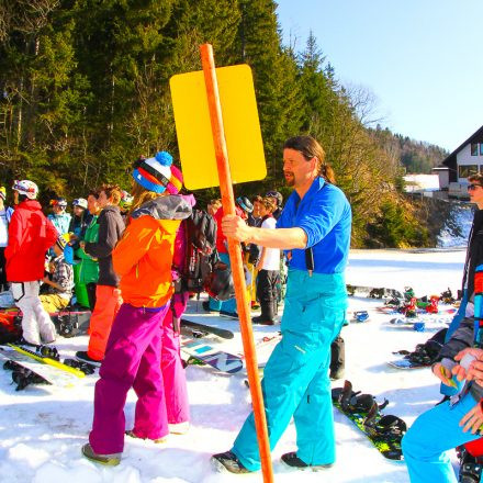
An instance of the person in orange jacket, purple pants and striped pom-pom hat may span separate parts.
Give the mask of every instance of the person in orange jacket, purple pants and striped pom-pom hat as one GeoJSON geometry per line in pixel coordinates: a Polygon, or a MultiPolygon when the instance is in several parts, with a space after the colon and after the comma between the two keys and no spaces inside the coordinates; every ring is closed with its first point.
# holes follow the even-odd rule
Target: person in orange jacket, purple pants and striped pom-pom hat
{"type": "Polygon", "coordinates": [[[179,195],[172,157],[161,151],[133,171],[133,206],[126,231],[112,259],[121,277],[124,302],[109,337],[100,379],[96,383],[94,416],[82,454],[115,465],[124,448],[124,405],[127,392],[137,395],[133,438],[162,442],[169,433],[161,352],[162,321],[172,295],[173,244],[181,220],[191,214],[179,195]]]}

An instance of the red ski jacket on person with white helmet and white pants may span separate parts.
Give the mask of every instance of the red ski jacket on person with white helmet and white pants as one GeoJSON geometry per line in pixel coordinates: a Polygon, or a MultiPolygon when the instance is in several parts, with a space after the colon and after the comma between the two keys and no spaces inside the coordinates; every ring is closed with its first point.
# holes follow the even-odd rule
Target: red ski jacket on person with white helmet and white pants
{"type": "Polygon", "coordinates": [[[9,245],[5,248],[7,280],[42,280],[45,254],[57,237],[57,229],[42,213],[38,201],[25,200],[19,203],[9,225],[9,245]]]}

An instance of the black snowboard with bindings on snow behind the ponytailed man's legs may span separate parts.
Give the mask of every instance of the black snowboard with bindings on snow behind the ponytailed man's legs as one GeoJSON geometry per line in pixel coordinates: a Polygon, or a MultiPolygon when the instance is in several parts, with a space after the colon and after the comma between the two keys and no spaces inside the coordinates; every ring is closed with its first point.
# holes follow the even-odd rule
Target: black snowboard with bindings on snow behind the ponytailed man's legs
{"type": "Polygon", "coordinates": [[[384,458],[403,459],[401,439],[406,433],[406,424],[397,416],[381,414],[387,401],[378,405],[372,395],[353,392],[350,381],[346,381],[344,387],[333,389],[332,397],[334,406],[366,435],[384,458]]]}

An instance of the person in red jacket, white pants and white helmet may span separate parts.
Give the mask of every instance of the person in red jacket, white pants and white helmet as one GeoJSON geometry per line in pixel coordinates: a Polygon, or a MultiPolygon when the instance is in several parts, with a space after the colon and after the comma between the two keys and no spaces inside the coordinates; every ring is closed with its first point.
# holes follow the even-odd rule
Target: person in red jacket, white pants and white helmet
{"type": "Polygon", "coordinates": [[[23,338],[33,345],[41,340],[50,344],[55,340],[55,326],[42,306],[38,290],[44,279],[45,254],[58,234],[35,200],[38,188],[34,182],[15,181],[12,189],[16,206],[5,248],[7,280],[12,283],[15,305],[23,314],[23,338]]]}

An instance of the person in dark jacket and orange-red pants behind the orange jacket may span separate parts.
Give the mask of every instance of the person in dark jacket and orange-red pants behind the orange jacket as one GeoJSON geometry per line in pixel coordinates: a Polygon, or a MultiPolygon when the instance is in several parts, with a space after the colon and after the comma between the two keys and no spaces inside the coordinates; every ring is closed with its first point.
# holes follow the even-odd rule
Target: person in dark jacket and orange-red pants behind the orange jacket
{"type": "Polygon", "coordinates": [[[119,277],[112,267],[112,250],[124,232],[119,202],[122,191],[115,184],[103,184],[99,189],[98,203],[99,239],[97,243],[80,242],[86,254],[99,260],[99,281],[96,289],[96,306],[90,321],[90,338],[87,351],[79,351],[76,358],[100,366],[104,358],[111,326],[122,304],[117,289],[119,277]]]}

